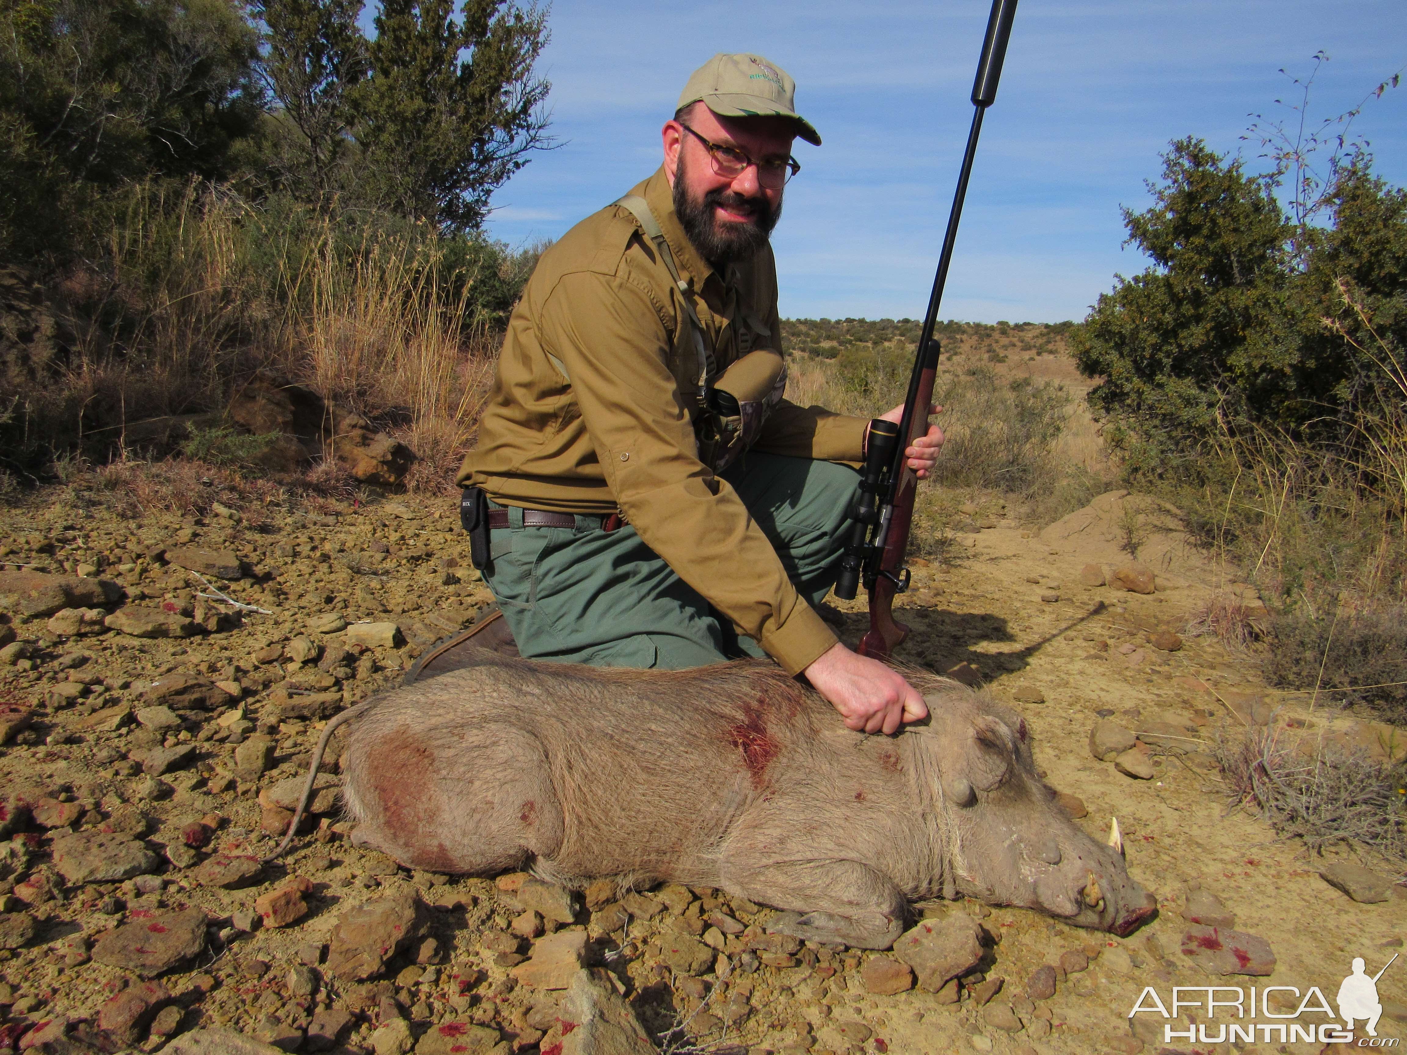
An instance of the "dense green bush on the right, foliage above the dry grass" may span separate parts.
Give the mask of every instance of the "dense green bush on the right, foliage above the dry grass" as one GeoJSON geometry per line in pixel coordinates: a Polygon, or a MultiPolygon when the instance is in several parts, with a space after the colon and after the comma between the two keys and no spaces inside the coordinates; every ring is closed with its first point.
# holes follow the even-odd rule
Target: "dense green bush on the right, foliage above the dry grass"
{"type": "Polygon", "coordinates": [[[1100,295],[1074,335],[1081,370],[1102,378],[1089,398],[1106,436],[1155,475],[1196,471],[1209,440],[1255,428],[1355,449],[1355,415],[1387,378],[1349,300],[1407,347],[1407,193],[1359,153],[1325,187],[1317,226],[1280,205],[1280,170],[1247,173],[1199,139],[1164,160],[1155,204],[1124,210],[1154,266],[1100,295]]]}

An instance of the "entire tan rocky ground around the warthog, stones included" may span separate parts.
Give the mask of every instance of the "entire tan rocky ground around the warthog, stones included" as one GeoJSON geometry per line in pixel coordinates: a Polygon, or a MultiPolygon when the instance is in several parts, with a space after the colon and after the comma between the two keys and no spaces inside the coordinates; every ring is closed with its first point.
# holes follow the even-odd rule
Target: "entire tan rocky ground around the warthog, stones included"
{"type": "MultiPolygon", "coordinates": [[[[1273,1024],[1401,948],[1394,867],[1278,841],[1214,758],[1266,723],[1379,757],[1401,737],[1188,634],[1214,595],[1256,599],[1121,492],[1040,533],[965,508],[954,561],[903,596],[900,658],[1013,702],[1079,823],[1103,838],[1117,817],[1159,917],[1120,940],[940,903],[885,954],[805,945],[718,890],[407,872],[349,841],[335,740],[308,833],[262,864],[326,719],[488,594],[445,499],[210,508],[0,512],[0,1051],[1230,1051],[1207,986],[1290,987],[1258,997],[1273,1024]],[[1128,1017],[1147,987],[1176,1020],[1128,1017]]],[[[858,636],[860,605],[833,618],[858,636]]],[[[1380,1037],[1407,1028],[1404,982],[1401,964],[1379,982],[1380,1037]]]]}

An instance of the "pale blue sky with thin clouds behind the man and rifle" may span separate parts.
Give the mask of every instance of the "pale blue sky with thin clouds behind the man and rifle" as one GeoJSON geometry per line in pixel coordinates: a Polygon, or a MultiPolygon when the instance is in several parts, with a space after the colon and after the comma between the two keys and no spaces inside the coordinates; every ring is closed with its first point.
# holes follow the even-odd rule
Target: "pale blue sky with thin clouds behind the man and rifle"
{"type": "MultiPolygon", "coordinates": [[[[825,145],[798,141],[802,173],[774,234],[785,316],[919,316],[971,120],[989,0],[677,3],[557,0],[539,69],[553,83],[556,151],[494,198],[488,228],[556,238],[658,165],[660,125],[692,69],[718,51],[768,56],[798,82],[825,145]]],[[[1320,72],[1310,110],[1334,115],[1407,63],[1403,0],[1021,0],[986,115],[944,318],[1083,318],[1116,271],[1120,205],[1147,204],[1169,139],[1218,151],[1320,72]]],[[[1289,115],[1289,114],[1286,114],[1289,115]]],[[[1355,128],[1380,176],[1407,183],[1407,84],[1355,128]]]]}

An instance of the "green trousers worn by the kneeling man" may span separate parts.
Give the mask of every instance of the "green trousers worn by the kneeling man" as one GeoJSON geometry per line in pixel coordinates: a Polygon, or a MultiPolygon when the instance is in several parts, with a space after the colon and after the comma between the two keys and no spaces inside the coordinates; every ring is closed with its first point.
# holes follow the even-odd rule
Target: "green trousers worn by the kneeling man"
{"type": "MultiPolygon", "coordinates": [[[[798,592],[812,605],[836,581],[858,480],[830,461],[751,453],[722,473],[771,540],[798,592]]],[[[702,667],[764,653],[740,637],[692,587],[646,546],[635,528],[601,530],[509,526],[492,533],[484,580],[519,651],[533,660],[594,667],[702,667]]]]}

